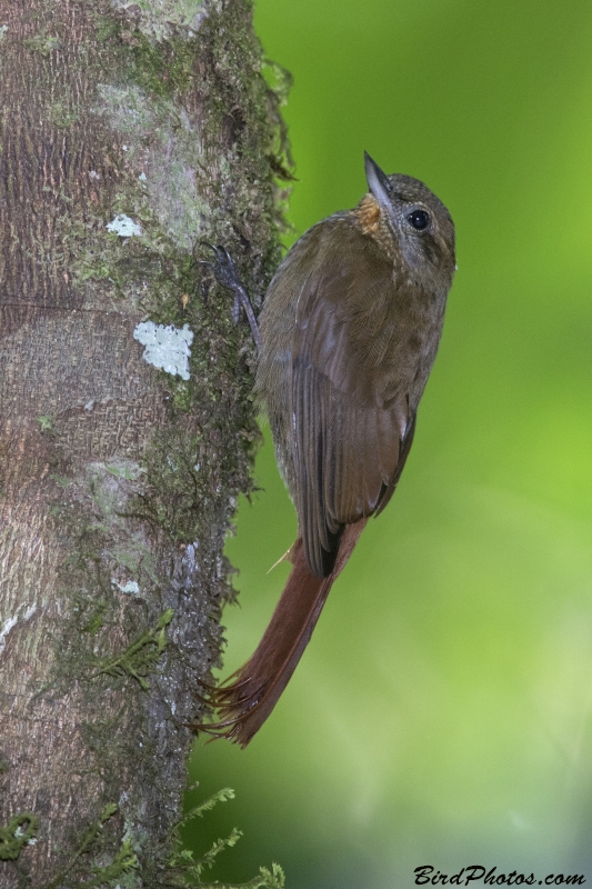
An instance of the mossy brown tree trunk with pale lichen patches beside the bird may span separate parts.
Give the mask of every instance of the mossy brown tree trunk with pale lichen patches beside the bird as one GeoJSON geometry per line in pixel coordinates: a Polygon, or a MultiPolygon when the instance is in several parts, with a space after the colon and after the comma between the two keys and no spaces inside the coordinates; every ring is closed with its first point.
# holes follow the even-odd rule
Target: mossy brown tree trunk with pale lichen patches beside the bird
{"type": "Polygon", "coordinates": [[[261,67],[248,0],[0,0],[2,889],[175,880],[258,436],[249,329],[195,258],[224,243],[255,294],[277,263],[261,67]],[[189,326],[189,379],[146,320],[189,326]]]}

